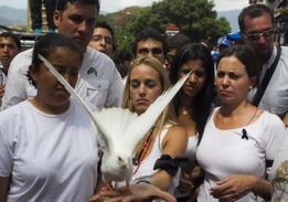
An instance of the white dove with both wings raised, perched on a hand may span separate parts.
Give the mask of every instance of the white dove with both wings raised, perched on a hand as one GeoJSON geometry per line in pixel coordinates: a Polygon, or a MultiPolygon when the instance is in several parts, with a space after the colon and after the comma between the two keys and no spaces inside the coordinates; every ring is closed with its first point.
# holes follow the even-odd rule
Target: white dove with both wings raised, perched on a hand
{"type": "Polygon", "coordinates": [[[162,110],[194,70],[179,79],[173,87],[170,87],[160,95],[146,113],[140,116],[131,113],[129,109],[116,107],[104,108],[100,111],[93,113],[53,65],[42,55],[39,55],[39,57],[92,117],[97,130],[100,150],[103,151],[100,170],[104,180],[106,182],[107,180],[126,181],[127,184],[129,184],[132,177],[132,155],[136,146],[150,130],[162,110]]]}

